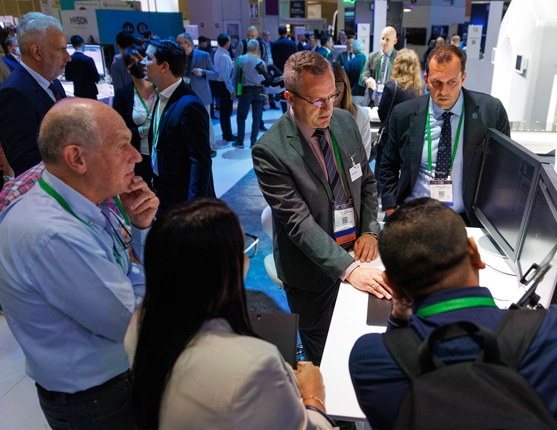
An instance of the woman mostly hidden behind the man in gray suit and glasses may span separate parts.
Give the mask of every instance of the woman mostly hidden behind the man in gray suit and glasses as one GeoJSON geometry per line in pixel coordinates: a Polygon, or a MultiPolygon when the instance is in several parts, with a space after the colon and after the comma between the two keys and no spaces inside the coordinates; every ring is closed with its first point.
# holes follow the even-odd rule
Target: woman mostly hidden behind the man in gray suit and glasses
{"type": "Polygon", "coordinates": [[[334,101],[334,106],[349,111],[356,120],[356,124],[358,124],[358,130],[360,130],[362,142],[366,150],[367,159],[369,160],[371,155],[371,109],[368,107],[358,106],[352,101],[350,80],[344,71],[344,67],[342,67],[339,63],[333,63],[333,74],[335,75],[337,90],[340,93],[334,101]]]}

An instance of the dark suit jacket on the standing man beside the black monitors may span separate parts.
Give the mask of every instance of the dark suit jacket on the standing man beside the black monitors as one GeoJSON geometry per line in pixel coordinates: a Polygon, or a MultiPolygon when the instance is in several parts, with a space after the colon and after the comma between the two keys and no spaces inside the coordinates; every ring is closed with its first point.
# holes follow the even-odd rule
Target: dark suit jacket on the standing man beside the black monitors
{"type": "MultiPolygon", "coordinates": [[[[472,204],[486,147],[488,128],[510,136],[509,119],[503,104],[490,95],[462,89],[464,94],[464,136],[462,197],[468,220],[480,226],[472,204]]],[[[393,108],[389,140],[381,158],[379,175],[383,209],[396,207],[412,194],[424,147],[429,95],[407,100],[393,108]],[[400,174],[400,177],[399,177],[400,174]]]]}

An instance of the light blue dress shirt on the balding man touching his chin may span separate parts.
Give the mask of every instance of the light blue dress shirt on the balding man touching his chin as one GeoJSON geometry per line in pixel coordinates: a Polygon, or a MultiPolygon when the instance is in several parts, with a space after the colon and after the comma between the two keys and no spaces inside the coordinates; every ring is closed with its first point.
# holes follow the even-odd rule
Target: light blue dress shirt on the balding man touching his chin
{"type": "MultiPolygon", "coordinates": [[[[79,219],[38,184],[2,212],[0,302],[26,373],[47,390],[74,393],[129,368],[124,335],[145,295],[145,275],[105,230],[103,204],[46,170],[43,180],[79,219]]],[[[124,223],[109,216],[115,228],[124,223]]],[[[146,234],[132,227],[140,260],[146,234]]]]}

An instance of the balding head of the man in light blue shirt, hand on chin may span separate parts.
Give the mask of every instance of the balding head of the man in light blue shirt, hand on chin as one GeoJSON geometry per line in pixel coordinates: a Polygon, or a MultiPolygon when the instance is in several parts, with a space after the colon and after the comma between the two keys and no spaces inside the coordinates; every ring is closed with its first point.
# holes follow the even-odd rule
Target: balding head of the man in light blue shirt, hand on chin
{"type": "Polygon", "coordinates": [[[141,161],[122,117],[82,98],[62,99],[48,111],[39,149],[49,172],[95,204],[128,191],[141,161]]]}

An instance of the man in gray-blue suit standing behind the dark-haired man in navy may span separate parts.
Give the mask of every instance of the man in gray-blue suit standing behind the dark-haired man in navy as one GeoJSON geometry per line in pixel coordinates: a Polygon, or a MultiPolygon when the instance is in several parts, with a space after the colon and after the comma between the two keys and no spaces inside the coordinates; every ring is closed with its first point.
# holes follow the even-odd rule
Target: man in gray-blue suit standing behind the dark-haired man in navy
{"type": "MultiPolygon", "coordinates": [[[[211,55],[199,49],[193,49],[193,39],[188,33],[182,33],[176,38],[178,45],[186,52],[186,71],[184,81],[191,85],[197,97],[201,99],[209,116],[211,115],[211,103],[213,95],[209,80],[216,81],[219,74],[213,66],[211,55]]],[[[213,124],[209,122],[209,139],[211,143],[211,156],[217,155],[217,144],[213,124]]]]}

